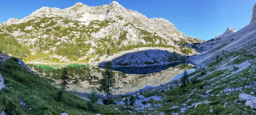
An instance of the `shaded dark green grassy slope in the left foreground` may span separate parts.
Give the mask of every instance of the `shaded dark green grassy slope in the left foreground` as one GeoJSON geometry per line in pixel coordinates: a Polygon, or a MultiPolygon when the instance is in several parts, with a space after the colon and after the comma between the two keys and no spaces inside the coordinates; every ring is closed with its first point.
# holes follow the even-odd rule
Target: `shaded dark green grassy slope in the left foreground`
{"type": "MultiPolygon", "coordinates": [[[[55,101],[58,89],[41,77],[29,73],[26,68],[18,66],[17,59],[12,58],[0,63],[0,74],[7,84],[6,88],[0,91],[0,111],[4,110],[8,115],[60,115],[62,112],[69,115],[82,115],[84,112],[86,115],[95,115],[89,112],[87,101],[73,93],[65,92],[62,102],[55,101]],[[20,101],[24,101],[26,105],[21,106],[20,101]]],[[[101,115],[126,114],[116,111],[113,108],[116,105],[94,106],[96,113],[101,115]]]]}

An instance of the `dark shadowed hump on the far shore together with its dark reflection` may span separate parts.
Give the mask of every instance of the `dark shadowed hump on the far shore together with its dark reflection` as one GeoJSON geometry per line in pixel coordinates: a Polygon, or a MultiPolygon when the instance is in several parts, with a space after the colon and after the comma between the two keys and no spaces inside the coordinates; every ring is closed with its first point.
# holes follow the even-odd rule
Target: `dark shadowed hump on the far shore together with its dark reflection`
{"type": "MultiPolygon", "coordinates": [[[[146,75],[160,72],[170,67],[176,67],[186,62],[186,56],[167,50],[143,50],[139,52],[126,53],[112,61],[113,70],[126,74],[146,75]]],[[[106,62],[99,64],[104,68],[106,62]]]]}

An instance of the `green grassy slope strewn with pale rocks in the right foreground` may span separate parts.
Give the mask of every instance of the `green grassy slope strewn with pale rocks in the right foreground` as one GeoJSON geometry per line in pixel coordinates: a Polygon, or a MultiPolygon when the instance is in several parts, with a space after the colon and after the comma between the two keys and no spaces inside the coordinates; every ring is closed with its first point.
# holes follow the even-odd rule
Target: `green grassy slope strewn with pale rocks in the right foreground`
{"type": "MultiPolygon", "coordinates": [[[[256,112],[253,111],[253,109],[250,109],[250,107],[245,106],[245,102],[239,101],[239,93],[241,91],[236,90],[233,92],[226,92],[231,93],[231,95],[226,95],[226,93],[220,93],[226,88],[238,88],[238,87],[245,87],[246,85],[254,85],[253,81],[256,81],[255,75],[255,56],[252,55],[246,55],[243,53],[229,53],[222,57],[220,61],[215,61],[210,64],[208,64],[209,68],[201,68],[199,70],[196,70],[194,73],[190,73],[189,76],[192,77],[190,81],[193,79],[198,79],[200,77],[203,77],[200,79],[199,83],[192,84],[190,82],[186,86],[186,92],[183,92],[183,90],[180,88],[180,86],[176,87],[176,85],[166,92],[160,93],[162,89],[157,89],[158,93],[154,93],[152,95],[160,95],[161,97],[164,97],[166,95],[166,98],[163,99],[163,101],[148,101],[150,104],[163,104],[163,107],[159,107],[153,110],[147,110],[147,114],[151,113],[152,115],[157,115],[154,112],[157,111],[157,113],[165,112],[165,115],[172,115],[172,112],[179,112],[179,109],[169,109],[173,106],[182,106],[182,104],[192,105],[196,104],[198,102],[204,102],[209,101],[208,104],[200,104],[197,106],[196,109],[194,109],[195,106],[189,108],[186,110],[184,115],[229,115],[232,113],[232,115],[251,115],[255,114],[256,112]],[[237,57],[237,59],[232,60],[232,58],[237,57]],[[230,67],[234,64],[239,65],[245,61],[248,61],[251,63],[251,65],[240,71],[237,72],[239,67],[230,67]],[[227,64],[225,67],[223,67],[223,70],[217,70],[220,69],[221,65],[227,64]],[[227,69],[227,68],[230,69],[227,69]],[[202,72],[204,73],[202,74],[202,72]],[[237,72],[237,73],[236,73],[237,72]],[[235,73],[235,74],[232,74],[235,73]],[[249,74],[250,73],[250,74],[249,74]],[[231,76],[228,76],[231,75],[231,76]],[[227,78],[224,78],[228,76],[227,78]],[[224,78],[224,79],[221,79],[224,78]],[[244,78],[246,80],[244,80],[244,78]],[[248,80],[250,79],[250,80],[248,80]],[[214,83],[214,84],[213,84],[214,83]],[[200,89],[200,86],[207,86],[204,89],[200,89]],[[189,97],[192,90],[197,90],[189,97]],[[209,93],[209,95],[206,95],[207,90],[211,90],[212,92],[209,93]],[[164,95],[163,95],[164,94],[164,95]],[[201,98],[201,95],[205,95],[206,97],[201,98]],[[211,96],[211,95],[214,96],[211,96]],[[220,96],[216,96],[217,94],[221,94],[220,96]],[[191,99],[190,101],[188,101],[191,99]],[[235,100],[238,100],[236,103],[235,100]],[[188,102],[186,102],[188,101],[188,102]],[[167,102],[167,104],[165,104],[167,102]],[[225,105],[224,108],[224,104],[225,105]],[[241,103],[241,104],[239,104],[241,103]],[[210,108],[212,106],[212,108],[210,108]],[[247,108],[247,109],[245,109],[247,108]],[[213,112],[209,112],[211,109],[213,109],[213,112]]],[[[242,89],[244,93],[250,94],[250,92],[255,92],[252,88],[246,88],[242,89]]],[[[151,95],[152,91],[147,91],[143,93],[143,95],[151,95]]],[[[255,95],[254,95],[255,96],[255,95]]],[[[126,97],[125,97],[126,98],[126,97]]],[[[129,97],[127,97],[129,98],[129,97]]],[[[185,106],[186,107],[186,106],[185,106]]],[[[137,112],[137,115],[144,115],[145,113],[137,112]]]]}

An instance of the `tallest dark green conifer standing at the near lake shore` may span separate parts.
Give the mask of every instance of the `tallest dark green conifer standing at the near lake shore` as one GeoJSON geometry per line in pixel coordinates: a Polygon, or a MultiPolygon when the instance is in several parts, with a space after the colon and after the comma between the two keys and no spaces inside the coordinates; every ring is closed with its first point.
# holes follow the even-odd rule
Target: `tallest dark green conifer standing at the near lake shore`
{"type": "Polygon", "coordinates": [[[101,83],[100,83],[101,86],[99,87],[100,92],[103,91],[105,94],[107,94],[107,104],[109,103],[108,95],[111,92],[111,88],[115,84],[115,78],[114,78],[114,74],[111,66],[112,66],[111,62],[107,62],[105,64],[104,66],[105,71],[102,73],[103,78],[101,79],[101,83]]]}

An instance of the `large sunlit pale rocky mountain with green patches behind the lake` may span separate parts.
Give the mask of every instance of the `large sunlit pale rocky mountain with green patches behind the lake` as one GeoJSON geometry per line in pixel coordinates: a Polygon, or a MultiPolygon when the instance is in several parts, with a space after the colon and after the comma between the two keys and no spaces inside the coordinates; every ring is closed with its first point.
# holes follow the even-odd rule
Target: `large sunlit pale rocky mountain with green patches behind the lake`
{"type": "Polygon", "coordinates": [[[95,7],[82,3],[64,9],[42,7],[23,19],[11,18],[0,24],[0,35],[14,37],[27,48],[29,54],[16,55],[25,62],[48,63],[94,62],[108,51],[110,56],[134,48],[173,48],[181,55],[192,55],[195,50],[183,45],[204,42],[178,31],[169,20],[148,19],[117,2],[95,7]]]}

